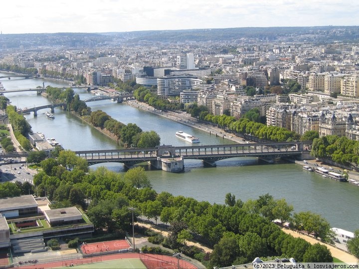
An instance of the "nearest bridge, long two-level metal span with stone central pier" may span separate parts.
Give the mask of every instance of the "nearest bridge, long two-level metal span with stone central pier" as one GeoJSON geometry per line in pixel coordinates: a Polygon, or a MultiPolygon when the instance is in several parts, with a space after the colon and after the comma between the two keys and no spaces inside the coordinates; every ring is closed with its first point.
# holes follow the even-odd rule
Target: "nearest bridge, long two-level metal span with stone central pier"
{"type": "Polygon", "coordinates": [[[162,145],[154,148],[88,150],[75,151],[75,153],[85,158],[90,165],[120,162],[126,167],[132,167],[137,163],[149,161],[153,166],[160,168],[160,161],[176,162],[180,165],[184,163],[184,159],[199,159],[204,164],[215,166],[216,161],[233,157],[258,157],[269,162],[279,157],[295,158],[303,152],[308,152],[304,145],[311,143],[312,141],[293,141],[228,145],[162,145]]]}

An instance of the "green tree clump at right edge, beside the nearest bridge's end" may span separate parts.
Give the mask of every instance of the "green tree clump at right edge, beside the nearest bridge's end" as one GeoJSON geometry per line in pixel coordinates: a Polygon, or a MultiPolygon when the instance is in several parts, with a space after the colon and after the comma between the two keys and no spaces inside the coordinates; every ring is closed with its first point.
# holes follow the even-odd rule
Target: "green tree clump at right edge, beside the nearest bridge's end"
{"type": "Polygon", "coordinates": [[[359,141],[338,135],[322,136],[313,140],[311,155],[356,166],[359,164],[359,141]]]}

